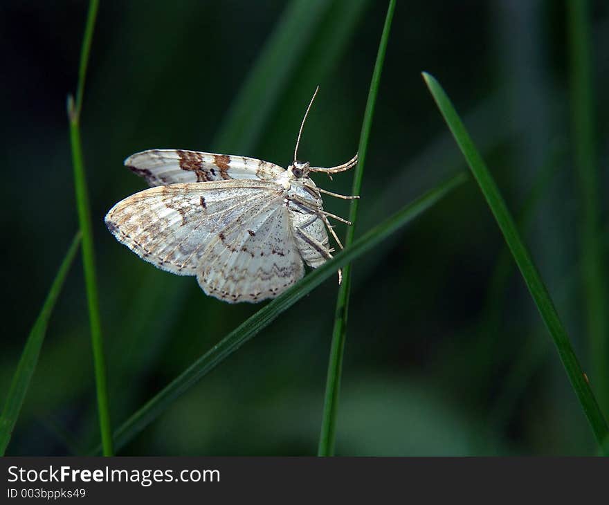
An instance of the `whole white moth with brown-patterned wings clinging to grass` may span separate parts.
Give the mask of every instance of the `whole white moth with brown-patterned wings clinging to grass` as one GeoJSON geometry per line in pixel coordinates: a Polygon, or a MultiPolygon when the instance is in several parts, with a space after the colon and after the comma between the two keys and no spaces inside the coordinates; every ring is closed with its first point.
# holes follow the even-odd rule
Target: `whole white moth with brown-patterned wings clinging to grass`
{"type": "MultiPolygon", "coordinates": [[[[300,279],[303,261],[317,268],[331,258],[322,190],[310,172],[337,167],[299,161],[298,143],[316,89],[302,119],[294,161],[287,169],[268,161],[175,149],[152,149],[125,160],[147,190],[128,196],[105,217],[108,230],[139,257],[178,275],[194,275],[203,291],[226,302],[274,298],[300,279]]],[[[339,271],[340,282],[340,271],[339,271]]]]}

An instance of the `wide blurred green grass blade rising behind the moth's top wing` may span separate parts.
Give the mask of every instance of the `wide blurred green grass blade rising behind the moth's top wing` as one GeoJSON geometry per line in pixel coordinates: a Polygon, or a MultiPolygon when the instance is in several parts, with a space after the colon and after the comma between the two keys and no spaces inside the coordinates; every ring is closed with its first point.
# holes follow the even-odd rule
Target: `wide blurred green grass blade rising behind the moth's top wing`
{"type": "Polygon", "coordinates": [[[252,149],[330,4],[329,0],[289,4],[220,127],[214,142],[217,152],[252,149]]]}

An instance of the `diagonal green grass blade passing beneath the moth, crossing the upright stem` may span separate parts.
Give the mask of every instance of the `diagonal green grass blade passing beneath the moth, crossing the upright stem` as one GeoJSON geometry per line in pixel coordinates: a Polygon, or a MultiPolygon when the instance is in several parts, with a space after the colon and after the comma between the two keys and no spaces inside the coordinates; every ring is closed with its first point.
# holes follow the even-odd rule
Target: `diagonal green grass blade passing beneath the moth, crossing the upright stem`
{"type": "Polygon", "coordinates": [[[190,365],[172,383],[156,394],[154,398],[148,401],[120,426],[114,437],[117,448],[124,446],[125,443],[133,439],[138,432],[160,416],[179,396],[187,392],[190,387],[219,365],[221,361],[278,318],[283,311],[289,309],[290,306],[298,302],[307,293],[310,293],[313,288],[319,286],[325,279],[336,275],[336,270],[340,266],[347,264],[349,261],[374,248],[379,242],[435,205],[443,196],[465,180],[466,176],[459,174],[430,190],[416,201],[406,205],[402,210],[393,214],[392,217],[365,233],[352,246],[340,251],[334,259],[313,270],[298,284],[292,286],[288,291],[282,293],[282,295],[252,315],[251,318],[240,324],[237,329],[229,333],[228,336],[212,347],[210,351],[190,365]]]}

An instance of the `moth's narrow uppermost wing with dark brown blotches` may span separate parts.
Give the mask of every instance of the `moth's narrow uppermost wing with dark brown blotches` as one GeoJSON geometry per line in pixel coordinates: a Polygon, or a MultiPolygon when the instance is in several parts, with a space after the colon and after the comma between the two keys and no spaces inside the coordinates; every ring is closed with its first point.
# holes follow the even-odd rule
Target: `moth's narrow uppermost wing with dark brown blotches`
{"type": "Polygon", "coordinates": [[[285,172],[268,161],[181,149],[150,149],[125,160],[131,172],[151,186],[175,183],[201,183],[230,179],[271,180],[285,172]]]}

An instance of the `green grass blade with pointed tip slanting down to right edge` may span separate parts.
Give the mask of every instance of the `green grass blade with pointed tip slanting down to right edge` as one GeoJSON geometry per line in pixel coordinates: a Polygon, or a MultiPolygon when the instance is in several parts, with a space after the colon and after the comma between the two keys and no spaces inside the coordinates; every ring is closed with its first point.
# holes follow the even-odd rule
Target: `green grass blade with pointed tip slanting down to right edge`
{"type": "Polygon", "coordinates": [[[525,247],[525,244],[523,244],[522,239],[520,239],[520,235],[513,223],[511,214],[509,213],[509,210],[507,210],[507,206],[502,199],[489,169],[487,169],[484,164],[484,160],[482,160],[482,156],[478,153],[478,149],[475,148],[461,119],[453,108],[453,104],[451,104],[451,101],[448,99],[448,96],[446,96],[446,93],[444,93],[442,86],[440,86],[434,77],[428,73],[423,73],[423,77],[442,116],[444,116],[444,120],[446,120],[448,128],[451,129],[451,132],[457,141],[457,145],[459,145],[461,152],[466,158],[471,172],[491,208],[491,212],[493,212],[493,216],[505,237],[507,246],[520,269],[522,278],[525,280],[525,284],[527,284],[527,288],[531,293],[531,297],[533,297],[541,318],[554,340],[554,344],[561,357],[567,376],[581,403],[583,412],[590,422],[594,436],[597,438],[601,448],[603,448],[606,441],[609,440],[609,428],[603,418],[599,405],[594,398],[594,394],[592,394],[588,378],[583,373],[579,361],[575,356],[569,336],[558,317],[552,298],[531,259],[529,251],[525,247]]]}

